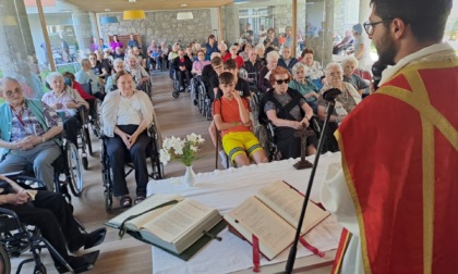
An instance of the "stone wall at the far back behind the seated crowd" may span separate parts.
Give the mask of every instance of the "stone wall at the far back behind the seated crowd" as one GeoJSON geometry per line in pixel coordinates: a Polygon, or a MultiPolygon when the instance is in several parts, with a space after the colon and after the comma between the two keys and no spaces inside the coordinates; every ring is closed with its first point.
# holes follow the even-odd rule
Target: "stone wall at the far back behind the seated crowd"
{"type": "Polygon", "coordinates": [[[154,39],[156,42],[174,43],[198,41],[205,43],[208,35],[213,34],[210,10],[189,10],[193,20],[177,20],[177,11],[146,12],[145,20],[122,20],[122,13],[100,14],[103,16],[117,16],[119,23],[100,25],[101,37],[108,41],[109,35],[140,34],[144,48],[154,39]]]}

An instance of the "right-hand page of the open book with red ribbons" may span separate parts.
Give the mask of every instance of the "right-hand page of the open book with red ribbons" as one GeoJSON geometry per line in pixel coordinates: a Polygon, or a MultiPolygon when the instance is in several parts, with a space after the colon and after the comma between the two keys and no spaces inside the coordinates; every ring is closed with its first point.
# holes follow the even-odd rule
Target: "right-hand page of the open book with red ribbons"
{"type": "MultiPolygon", "coordinates": [[[[263,187],[256,197],[294,228],[298,227],[304,197],[282,180],[263,187]]],[[[309,201],[301,233],[305,234],[323,221],[329,213],[309,201]]]]}

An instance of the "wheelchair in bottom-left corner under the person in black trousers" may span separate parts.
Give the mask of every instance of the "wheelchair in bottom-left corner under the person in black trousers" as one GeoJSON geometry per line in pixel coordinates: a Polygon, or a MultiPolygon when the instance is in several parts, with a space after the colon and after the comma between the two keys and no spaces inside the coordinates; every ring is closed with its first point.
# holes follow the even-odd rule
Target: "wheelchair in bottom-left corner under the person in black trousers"
{"type": "MultiPolygon", "coordinates": [[[[8,175],[25,189],[44,190],[44,183],[28,176],[20,174],[8,175]]],[[[84,227],[81,226],[84,231],[84,227]]],[[[23,260],[19,265],[16,273],[21,273],[24,264],[35,262],[34,274],[46,274],[47,270],[40,260],[39,253],[43,248],[47,248],[50,253],[62,264],[69,272],[73,272],[71,266],[59,254],[59,252],[43,237],[39,229],[26,226],[21,223],[14,211],[0,208],[0,273],[11,273],[10,258],[19,258],[22,253],[32,252],[31,259],[23,260]]]]}

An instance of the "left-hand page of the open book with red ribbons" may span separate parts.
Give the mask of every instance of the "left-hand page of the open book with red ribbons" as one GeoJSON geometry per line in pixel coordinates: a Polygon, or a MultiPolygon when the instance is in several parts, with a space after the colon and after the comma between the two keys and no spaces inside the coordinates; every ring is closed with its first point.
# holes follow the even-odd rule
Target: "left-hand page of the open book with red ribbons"
{"type": "Polygon", "coordinates": [[[294,229],[254,197],[229,212],[225,220],[251,242],[254,234],[268,259],[285,250],[294,239],[294,229]]]}

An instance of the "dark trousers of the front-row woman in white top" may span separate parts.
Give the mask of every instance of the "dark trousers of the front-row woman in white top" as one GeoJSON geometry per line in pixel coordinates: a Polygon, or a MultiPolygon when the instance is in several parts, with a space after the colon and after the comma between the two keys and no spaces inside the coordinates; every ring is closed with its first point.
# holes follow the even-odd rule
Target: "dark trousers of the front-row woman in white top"
{"type": "MultiPolygon", "coordinates": [[[[126,133],[133,134],[137,125],[118,125],[118,127],[126,133]]],[[[136,196],[146,197],[146,185],[148,184],[148,169],[146,166],[146,149],[149,144],[149,136],[143,132],[135,144],[129,150],[121,137],[107,138],[107,152],[110,159],[111,170],[113,174],[113,194],[116,197],[129,194],[125,182],[125,158],[128,153],[131,157],[135,167],[136,196]]]]}

